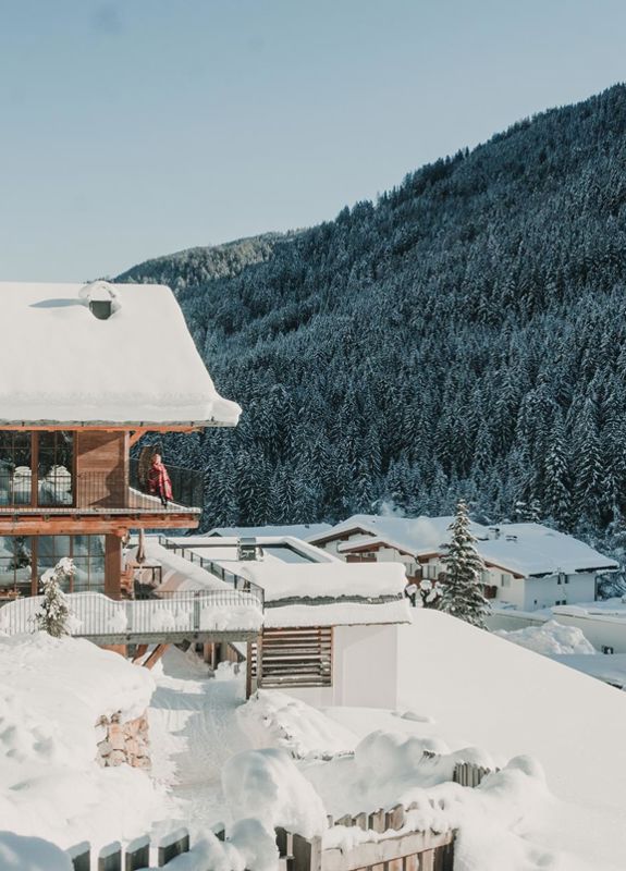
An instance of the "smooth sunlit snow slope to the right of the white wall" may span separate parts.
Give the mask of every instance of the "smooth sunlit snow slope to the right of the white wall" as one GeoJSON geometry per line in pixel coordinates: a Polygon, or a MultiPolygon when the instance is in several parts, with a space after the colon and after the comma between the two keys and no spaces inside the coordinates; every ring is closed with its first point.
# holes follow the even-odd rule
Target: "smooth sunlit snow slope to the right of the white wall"
{"type": "Polygon", "coordinates": [[[384,728],[453,749],[477,745],[496,762],[530,753],[561,799],[533,830],[547,849],[570,854],[555,867],[623,871],[626,696],[435,611],[416,609],[398,631],[400,698],[408,717],[434,722],[372,709],[328,713],[358,735],[384,728]]]}

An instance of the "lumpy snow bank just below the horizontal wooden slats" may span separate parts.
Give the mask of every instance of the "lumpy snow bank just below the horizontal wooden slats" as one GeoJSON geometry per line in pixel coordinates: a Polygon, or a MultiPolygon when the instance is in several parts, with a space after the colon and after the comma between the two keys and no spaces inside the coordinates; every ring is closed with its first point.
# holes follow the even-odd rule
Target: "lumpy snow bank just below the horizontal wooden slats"
{"type": "Polygon", "coordinates": [[[237,719],[255,747],[283,747],[295,759],[329,759],[358,741],[317,708],[277,690],[257,690],[237,709],[237,719]]]}

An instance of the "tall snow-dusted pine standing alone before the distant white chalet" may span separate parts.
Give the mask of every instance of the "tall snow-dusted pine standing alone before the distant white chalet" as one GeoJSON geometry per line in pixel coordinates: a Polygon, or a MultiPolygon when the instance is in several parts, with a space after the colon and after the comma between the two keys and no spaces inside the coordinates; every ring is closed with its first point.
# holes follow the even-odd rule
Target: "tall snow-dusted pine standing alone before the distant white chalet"
{"type": "Polygon", "coordinates": [[[452,538],[442,557],[445,579],[441,585],[438,608],[484,628],[484,617],[489,611],[489,603],[480,589],[480,573],[484,563],[476,550],[476,539],[469,531],[467,505],[463,500],[456,506],[456,515],[449,529],[452,538]]]}

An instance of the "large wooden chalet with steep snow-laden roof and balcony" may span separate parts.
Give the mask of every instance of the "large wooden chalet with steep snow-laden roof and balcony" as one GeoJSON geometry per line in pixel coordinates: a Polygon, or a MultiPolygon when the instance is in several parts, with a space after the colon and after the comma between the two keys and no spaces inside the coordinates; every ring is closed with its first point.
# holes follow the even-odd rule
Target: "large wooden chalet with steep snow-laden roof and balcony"
{"type": "Polygon", "coordinates": [[[161,498],[132,446],[233,427],[240,406],[216,391],[169,287],[0,283],[0,603],[36,596],[63,556],[67,592],[132,597],[130,530],[195,528],[202,504],[199,471],[167,464],[161,498]]]}

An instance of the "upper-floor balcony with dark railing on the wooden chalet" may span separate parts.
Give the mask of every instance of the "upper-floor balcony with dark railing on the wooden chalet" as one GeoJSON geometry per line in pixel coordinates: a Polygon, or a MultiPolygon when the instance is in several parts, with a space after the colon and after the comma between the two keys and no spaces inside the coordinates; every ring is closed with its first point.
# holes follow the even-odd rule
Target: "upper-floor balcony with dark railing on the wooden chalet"
{"type": "Polygon", "coordinates": [[[123,470],[81,471],[53,466],[34,481],[30,469],[0,467],[0,517],[7,515],[199,515],[202,508],[202,475],[180,466],[168,466],[172,501],[146,492],[136,459],[123,470]]]}

